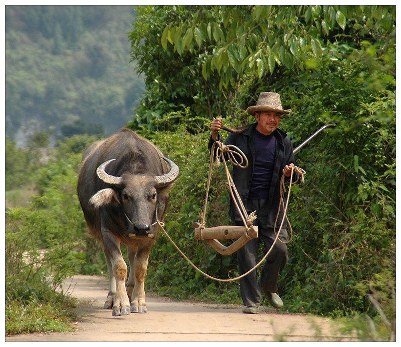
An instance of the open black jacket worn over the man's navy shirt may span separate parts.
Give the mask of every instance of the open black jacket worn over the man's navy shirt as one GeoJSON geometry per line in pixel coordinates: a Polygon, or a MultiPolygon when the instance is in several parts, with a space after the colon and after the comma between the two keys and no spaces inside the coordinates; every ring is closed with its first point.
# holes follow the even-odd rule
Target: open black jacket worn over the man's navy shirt
{"type": "MultiPolygon", "coordinates": [[[[255,148],[252,142],[252,134],[256,125],[257,123],[252,124],[248,129],[246,129],[241,134],[230,133],[230,135],[224,141],[224,144],[226,145],[232,144],[237,146],[244,152],[244,154],[248,159],[249,164],[248,167],[245,169],[232,165],[233,181],[244,205],[246,205],[246,200],[248,198],[253,175],[255,148]]],[[[266,225],[267,227],[273,227],[276,220],[277,211],[280,204],[280,180],[281,176],[283,175],[283,168],[285,165],[294,163],[294,153],[293,153],[292,143],[290,139],[287,137],[287,134],[284,131],[277,128],[273,132],[273,135],[276,139],[276,153],[274,160],[274,171],[273,171],[273,176],[271,178],[271,185],[267,204],[268,210],[258,211],[258,214],[267,213],[267,225],[266,225]]],[[[208,143],[209,150],[211,150],[212,145],[213,145],[213,139],[210,137],[208,143]]],[[[296,178],[297,175],[294,174],[293,181],[295,181],[296,178]]],[[[284,193],[284,205],[286,204],[286,201],[287,201],[287,194],[284,193]]],[[[280,211],[280,216],[277,220],[277,229],[281,225],[283,214],[284,213],[282,207],[280,211]]],[[[241,221],[241,217],[237,211],[237,207],[232,201],[232,197],[230,197],[229,215],[233,221],[241,221]]],[[[283,228],[285,228],[286,225],[287,223],[285,221],[283,224],[283,228]]]]}

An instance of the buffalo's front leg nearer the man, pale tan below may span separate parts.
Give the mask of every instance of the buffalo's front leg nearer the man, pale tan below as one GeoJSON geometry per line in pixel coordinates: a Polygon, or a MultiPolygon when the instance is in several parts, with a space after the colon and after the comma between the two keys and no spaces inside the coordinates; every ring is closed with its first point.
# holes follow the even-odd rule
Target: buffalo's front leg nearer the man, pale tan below
{"type": "Polygon", "coordinates": [[[146,313],[145,303],[145,276],[148,268],[150,248],[128,248],[130,261],[130,276],[127,282],[127,292],[131,296],[131,312],[146,313]]]}

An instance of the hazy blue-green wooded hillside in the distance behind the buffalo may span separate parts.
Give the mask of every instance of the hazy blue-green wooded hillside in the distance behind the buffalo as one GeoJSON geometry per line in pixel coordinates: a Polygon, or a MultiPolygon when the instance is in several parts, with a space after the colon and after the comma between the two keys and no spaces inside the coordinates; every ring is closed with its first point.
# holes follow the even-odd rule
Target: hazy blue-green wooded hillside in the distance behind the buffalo
{"type": "Polygon", "coordinates": [[[108,135],[130,121],[144,90],[134,19],[134,6],[5,6],[6,135],[108,135]]]}

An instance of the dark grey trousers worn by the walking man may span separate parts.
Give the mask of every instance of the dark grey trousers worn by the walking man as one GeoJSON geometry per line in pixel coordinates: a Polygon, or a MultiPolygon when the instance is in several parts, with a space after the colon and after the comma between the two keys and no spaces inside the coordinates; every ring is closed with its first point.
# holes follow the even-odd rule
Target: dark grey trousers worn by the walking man
{"type": "MultiPolygon", "coordinates": [[[[267,228],[267,200],[248,200],[246,202],[246,210],[248,213],[256,210],[257,219],[253,225],[258,226],[259,237],[248,241],[242,248],[237,251],[238,270],[240,275],[247,272],[255,266],[261,259],[258,259],[259,245],[264,244],[264,254],[273,245],[276,235],[274,228],[267,228]]],[[[242,221],[234,222],[235,225],[244,225],[242,221]]],[[[279,231],[280,225],[276,226],[276,232],[279,231]]],[[[287,264],[287,242],[288,234],[286,229],[281,229],[279,239],[270,250],[267,259],[262,264],[262,272],[260,281],[256,276],[256,269],[250,272],[240,280],[241,297],[245,306],[258,306],[262,301],[262,292],[277,292],[278,276],[287,264]]]]}

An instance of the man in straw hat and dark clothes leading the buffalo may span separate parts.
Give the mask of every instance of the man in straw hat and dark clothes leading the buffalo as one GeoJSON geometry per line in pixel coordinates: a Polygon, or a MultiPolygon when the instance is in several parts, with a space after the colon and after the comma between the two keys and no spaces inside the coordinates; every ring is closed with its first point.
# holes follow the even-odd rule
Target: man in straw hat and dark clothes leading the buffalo
{"type": "MultiPolygon", "coordinates": [[[[242,133],[231,133],[224,144],[233,144],[246,155],[249,165],[243,169],[233,165],[232,177],[234,184],[246,207],[247,213],[256,210],[259,237],[250,240],[237,251],[240,275],[247,272],[258,263],[258,251],[261,242],[264,243],[265,254],[276,238],[274,225],[280,204],[280,179],[282,174],[290,177],[294,166],[292,143],[287,134],[278,128],[283,110],[280,95],[277,93],[261,93],[255,106],[247,108],[247,112],[255,116],[256,123],[250,125],[242,133]]],[[[223,119],[214,119],[211,123],[211,138],[209,149],[214,141],[220,141],[219,130],[223,119]]],[[[297,178],[293,174],[294,180],[297,178]]],[[[284,200],[284,204],[286,200],[284,200]]],[[[230,217],[234,225],[243,225],[240,215],[230,201],[230,217]]],[[[277,220],[278,232],[284,216],[281,208],[277,220]]],[[[283,306],[277,294],[278,276],[288,260],[288,233],[286,223],[280,231],[279,240],[267,256],[263,266],[260,282],[256,279],[256,270],[243,277],[240,282],[241,297],[244,302],[244,313],[258,313],[262,301],[262,293],[270,305],[276,309],[283,306]]]]}

